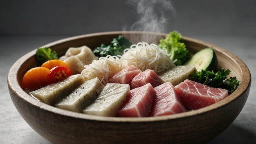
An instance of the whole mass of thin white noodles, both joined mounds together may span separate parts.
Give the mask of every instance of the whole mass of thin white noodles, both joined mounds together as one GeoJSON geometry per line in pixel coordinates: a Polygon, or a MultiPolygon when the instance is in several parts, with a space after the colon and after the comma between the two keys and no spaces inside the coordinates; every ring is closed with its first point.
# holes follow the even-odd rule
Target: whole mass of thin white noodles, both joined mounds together
{"type": "Polygon", "coordinates": [[[159,48],[156,44],[139,42],[124,50],[122,56],[106,56],[93,60],[85,65],[81,72],[85,81],[98,77],[106,85],[108,79],[129,65],[134,65],[141,71],[150,69],[160,74],[175,67],[166,49],[159,48]]]}

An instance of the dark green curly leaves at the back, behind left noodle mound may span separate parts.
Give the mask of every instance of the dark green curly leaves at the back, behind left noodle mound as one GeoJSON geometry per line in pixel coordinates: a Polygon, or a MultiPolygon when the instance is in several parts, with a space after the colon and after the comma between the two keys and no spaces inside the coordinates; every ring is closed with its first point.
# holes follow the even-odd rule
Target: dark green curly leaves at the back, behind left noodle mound
{"type": "Polygon", "coordinates": [[[124,49],[130,48],[131,45],[131,41],[126,39],[126,37],[119,35],[117,38],[114,38],[108,46],[101,44],[101,46],[95,48],[93,52],[97,57],[106,57],[107,55],[123,55],[124,49]]]}

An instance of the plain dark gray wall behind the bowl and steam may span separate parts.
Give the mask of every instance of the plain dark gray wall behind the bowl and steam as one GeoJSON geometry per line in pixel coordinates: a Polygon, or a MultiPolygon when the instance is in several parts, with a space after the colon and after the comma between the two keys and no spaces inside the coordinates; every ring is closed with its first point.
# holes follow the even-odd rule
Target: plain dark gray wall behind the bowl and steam
{"type": "MultiPolygon", "coordinates": [[[[148,0],[149,2],[150,0],[148,0]]],[[[165,32],[256,36],[256,0],[173,0],[165,32]]],[[[137,22],[125,0],[1,0],[0,35],[82,35],[137,22]]],[[[158,8],[161,10],[161,8],[158,8]]]]}

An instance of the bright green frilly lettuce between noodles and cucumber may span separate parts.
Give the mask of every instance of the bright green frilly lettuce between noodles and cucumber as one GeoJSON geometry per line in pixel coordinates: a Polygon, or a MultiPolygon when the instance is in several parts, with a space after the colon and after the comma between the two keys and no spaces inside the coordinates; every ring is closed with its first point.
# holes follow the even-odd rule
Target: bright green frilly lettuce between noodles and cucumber
{"type": "Polygon", "coordinates": [[[166,48],[171,54],[170,59],[175,65],[183,65],[190,58],[189,50],[183,42],[183,37],[177,31],[170,32],[165,39],[160,39],[159,48],[166,48]]]}

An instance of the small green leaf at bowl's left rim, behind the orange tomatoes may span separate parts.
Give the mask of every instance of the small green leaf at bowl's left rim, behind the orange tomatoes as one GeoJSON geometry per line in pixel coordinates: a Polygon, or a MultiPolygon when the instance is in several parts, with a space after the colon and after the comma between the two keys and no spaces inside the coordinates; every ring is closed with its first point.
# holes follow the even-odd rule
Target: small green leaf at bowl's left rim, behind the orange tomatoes
{"type": "Polygon", "coordinates": [[[49,47],[38,48],[36,50],[36,61],[38,61],[38,65],[42,65],[44,62],[51,59],[58,59],[56,51],[52,52],[52,49],[49,47]]]}

